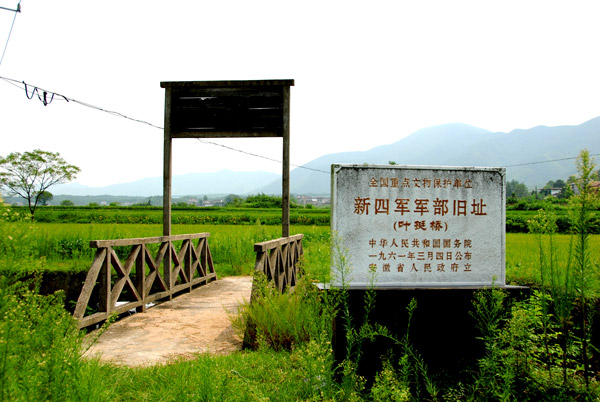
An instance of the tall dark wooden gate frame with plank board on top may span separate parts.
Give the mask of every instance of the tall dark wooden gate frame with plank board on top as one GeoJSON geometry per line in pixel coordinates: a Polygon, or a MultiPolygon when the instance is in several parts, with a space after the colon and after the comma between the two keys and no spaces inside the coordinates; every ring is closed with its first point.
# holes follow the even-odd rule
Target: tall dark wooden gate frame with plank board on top
{"type": "Polygon", "coordinates": [[[290,86],[294,80],[170,81],[165,89],[163,235],[171,235],[173,138],[283,138],[282,236],[290,234],[290,86]]]}

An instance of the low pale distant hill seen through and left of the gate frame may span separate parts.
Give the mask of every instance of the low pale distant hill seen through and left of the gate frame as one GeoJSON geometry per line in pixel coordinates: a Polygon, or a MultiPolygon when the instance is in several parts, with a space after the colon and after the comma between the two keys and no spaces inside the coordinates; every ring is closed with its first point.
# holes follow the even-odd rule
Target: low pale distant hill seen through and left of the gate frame
{"type": "MultiPolygon", "coordinates": [[[[221,170],[216,173],[188,173],[173,176],[171,194],[173,196],[188,194],[251,194],[265,183],[277,180],[277,173],[271,172],[232,172],[221,170]]],[[[52,186],[52,194],[69,195],[126,195],[143,196],[161,195],[163,178],[150,177],[131,183],[112,184],[104,187],[83,186],[78,183],[67,183],[52,186]]],[[[281,192],[281,190],[279,190],[281,192]]]]}

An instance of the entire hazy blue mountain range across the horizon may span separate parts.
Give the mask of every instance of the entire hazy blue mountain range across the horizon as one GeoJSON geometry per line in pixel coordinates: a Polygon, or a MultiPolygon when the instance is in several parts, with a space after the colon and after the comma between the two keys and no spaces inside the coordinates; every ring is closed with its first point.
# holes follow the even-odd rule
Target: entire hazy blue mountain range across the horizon
{"type": "MultiPolygon", "coordinates": [[[[525,183],[530,189],[549,180],[567,179],[576,173],[575,160],[587,148],[600,153],[600,117],[578,126],[538,126],[509,133],[491,132],[462,123],[424,128],[388,145],[367,151],[323,155],[290,173],[290,192],[330,192],[330,167],[334,163],[492,166],[506,167],[507,180],[525,183]]],[[[162,194],[162,177],[106,187],[77,183],[53,186],[54,194],[136,195],[162,194]]],[[[269,172],[189,173],[173,177],[172,194],[281,194],[281,176],[269,172]]]]}

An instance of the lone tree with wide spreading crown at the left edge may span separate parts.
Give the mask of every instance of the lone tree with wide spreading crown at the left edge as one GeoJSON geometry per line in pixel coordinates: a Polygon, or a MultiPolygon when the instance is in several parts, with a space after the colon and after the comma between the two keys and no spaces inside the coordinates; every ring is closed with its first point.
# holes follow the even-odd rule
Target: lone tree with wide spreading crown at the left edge
{"type": "Polygon", "coordinates": [[[40,197],[50,186],[71,181],[80,171],[67,164],[58,152],[39,149],[0,158],[0,169],[0,186],[26,199],[32,217],[40,197]]]}

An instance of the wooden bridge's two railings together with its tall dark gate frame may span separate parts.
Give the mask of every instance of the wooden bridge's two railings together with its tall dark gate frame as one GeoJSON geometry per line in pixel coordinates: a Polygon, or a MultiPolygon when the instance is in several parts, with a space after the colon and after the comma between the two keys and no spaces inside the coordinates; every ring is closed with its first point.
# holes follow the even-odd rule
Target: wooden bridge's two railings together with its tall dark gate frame
{"type": "Polygon", "coordinates": [[[172,301],[217,280],[209,234],[171,234],[175,138],[282,138],[282,237],[254,246],[255,269],[280,291],[295,285],[303,235],[289,236],[293,85],[294,80],[161,82],[165,89],[163,236],[91,242],[97,252],[74,312],[80,327],[132,309],[144,312],[151,303],[172,301]]]}

